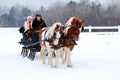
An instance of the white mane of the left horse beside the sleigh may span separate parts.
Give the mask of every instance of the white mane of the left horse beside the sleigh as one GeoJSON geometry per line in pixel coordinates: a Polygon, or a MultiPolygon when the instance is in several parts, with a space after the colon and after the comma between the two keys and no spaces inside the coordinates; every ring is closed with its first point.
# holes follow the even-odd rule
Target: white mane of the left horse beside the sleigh
{"type": "Polygon", "coordinates": [[[49,29],[48,31],[46,32],[46,37],[47,38],[51,38],[54,34],[54,30],[56,28],[57,25],[62,25],[60,22],[56,22],[54,23],[49,29]]]}

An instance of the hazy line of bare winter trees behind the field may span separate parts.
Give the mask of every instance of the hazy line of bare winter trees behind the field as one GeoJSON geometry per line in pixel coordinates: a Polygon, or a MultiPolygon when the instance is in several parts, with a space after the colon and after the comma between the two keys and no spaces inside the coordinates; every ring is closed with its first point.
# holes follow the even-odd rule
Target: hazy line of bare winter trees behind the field
{"type": "Polygon", "coordinates": [[[66,4],[56,2],[48,8],[41,7],[39,10],[32,10],[28,7],[16,5],[8,9],[0,7],[1,27],[20,27],[24,24],[26,17],[40,13],[47,26],[55,22],[65,24],[70,17],[78,17],[85,20],[85,26],[117,26],[120,25],[119,3],[109,4],[103,7],[99,2],[70,1],[66,4]]]}

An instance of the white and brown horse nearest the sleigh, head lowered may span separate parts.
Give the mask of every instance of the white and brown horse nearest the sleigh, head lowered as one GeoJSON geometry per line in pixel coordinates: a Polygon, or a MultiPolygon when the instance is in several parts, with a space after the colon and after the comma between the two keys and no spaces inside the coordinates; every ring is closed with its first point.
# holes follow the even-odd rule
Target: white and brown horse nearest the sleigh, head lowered
{"type": "Polygon", "coordinates": [[[50,65],[50,67],[58,67],[60,49],[54,47],[59,46],[59,39],[61,37],[61,26],[61,23],[55,23],[49,29],[43,28],[39,34],[40,40],[42,40],[40,43],[40,58],[42,59],[42,62],[45,63],[45,56],[46,53],[48,53],[48,64],[50,65]],[[56,61],[54,65],[52,59],[53,53],[56,54],[56,61]]]}

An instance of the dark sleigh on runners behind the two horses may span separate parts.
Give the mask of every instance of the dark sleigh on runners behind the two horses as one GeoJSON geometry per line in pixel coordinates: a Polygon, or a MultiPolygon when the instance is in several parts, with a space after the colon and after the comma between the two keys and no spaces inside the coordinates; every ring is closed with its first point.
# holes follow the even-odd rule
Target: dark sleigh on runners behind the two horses
{"type": "Polygon", "coordinates": [[[28,57],[30,60],[34,60],[36,52],[40,52],[40,41],[38,37],[38,32],[36,30],[28,30],[24,32],[24,27],[19,29],[19,32],[23,35],[20,40],[20,45],[22,45],[21,56],[28,57]]]}

